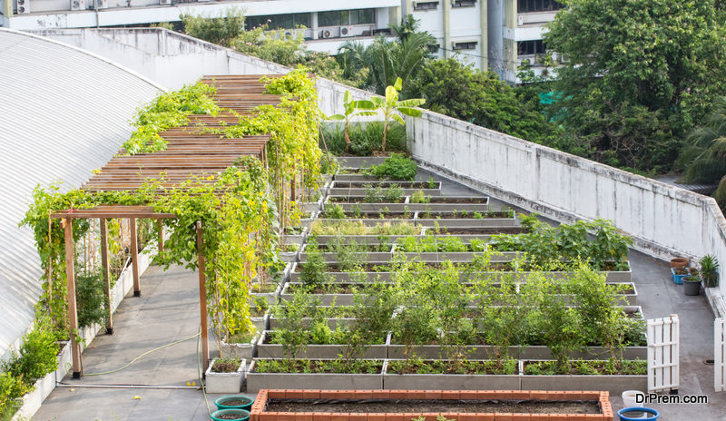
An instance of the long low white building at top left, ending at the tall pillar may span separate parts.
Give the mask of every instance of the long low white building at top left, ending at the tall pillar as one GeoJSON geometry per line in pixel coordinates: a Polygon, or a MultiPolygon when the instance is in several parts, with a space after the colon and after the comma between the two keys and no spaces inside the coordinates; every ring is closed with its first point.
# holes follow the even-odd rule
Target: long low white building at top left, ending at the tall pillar
{"type": "Polygon", "coordinates": [[[180,15],[222,16],[238,7],[249,27],[302,34],[310,49],[335,53],[350,38],[368,43],[400,22],[400,0],[0,0],[0,25],[19,30],[175,22],[180,15]],[[305,26],[306,29],[299,29],[305,26]]]}

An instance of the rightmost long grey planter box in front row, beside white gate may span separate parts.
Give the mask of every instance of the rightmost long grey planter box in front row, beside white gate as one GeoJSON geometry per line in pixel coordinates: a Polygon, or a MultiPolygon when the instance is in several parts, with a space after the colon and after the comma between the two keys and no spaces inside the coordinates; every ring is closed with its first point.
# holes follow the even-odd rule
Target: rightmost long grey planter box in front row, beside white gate
{"type": "MultiPolygon", "coordinates": [[[[524,367],[525,361],[520,361],[524,367]]],[[[532,376],[522,375],[522,390],[586,390],[596,387],[613,396],[625,390],[648,390],[648,377],[642,376],[532,376]]]]}

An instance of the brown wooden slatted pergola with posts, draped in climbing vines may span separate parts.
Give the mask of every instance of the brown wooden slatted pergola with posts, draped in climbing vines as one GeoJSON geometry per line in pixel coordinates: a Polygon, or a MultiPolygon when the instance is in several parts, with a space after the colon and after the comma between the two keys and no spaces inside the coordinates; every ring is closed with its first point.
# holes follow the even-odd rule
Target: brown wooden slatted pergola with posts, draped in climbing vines
{"type": "MultiPolygon", "coordinates": [[[[202,82],[216,87],[215,102],[222,108],[228,108],[239,114],[253,113],[254,108],[262,104],[275,105],[280,103],[280,95],[265,94],[264,85],[260,83],[262,75],[248,76],[205,76],[202,82]]],[[[192,114],[189,123],[161,132],[160,136],[168,142],[164,151],[141,153],[132,156],[118,155],[103,166],[83,184],[83,191],[138,191],[148,181],[160,180],[161,188],[184,188],[184,183],[194,179],[194,183],[213,183],[207,180],[210,176],[225,171],[234,165],[242,156],[256,156],[263,163],[267,161],[266,146],[270,136],[245,136],[239,139],[228,139],[221,134],[206,132],[206,128],[223,128],[239,122],[233,113],[219,116],[192,114]]],[[[123,151],[122,151],[123,153],[123,151]]],[[[216,177],[214,177],[216,179],[216,177]]],[[[187,187],[188,188],[188,187],[187,187]]],[[[220,192],[223,192],[220,191],[220,192]]],[[[141,283],[138,268],[138,244],[136,220],[157,220],[159,230],[159,252],[163,252],[162,220],[175,219],[172,213],[156,212],[150,206],[107,205],[93,209],[58,210],[51,218],[62,220],[65,239],[66,280],[68,284],[68,319],[71,331],[73,354],[73,377],[80,378],[81,348],[74,332],[78,328],[77,308],[75,302],[74,274],[74,219],[99,219],[101,228],[101,260],[103,267],[103,289],[106,295],[105,317],[106,332],[113,335],[113,319],[111,315],[111,279],[109,272],[108,227],[106,220],[128,219],[131,228],[131,258],[133,276],[133,295],[141,296],[141,283]]],[[[204,275],[204,259],[201,254],[202,230],[201,221],[197,222],[197,257],[199,259],[199,297],[201,319],[201,347],[203,368],[209,364],[209,327],[207,325],[207,291],[204,275]]]]}

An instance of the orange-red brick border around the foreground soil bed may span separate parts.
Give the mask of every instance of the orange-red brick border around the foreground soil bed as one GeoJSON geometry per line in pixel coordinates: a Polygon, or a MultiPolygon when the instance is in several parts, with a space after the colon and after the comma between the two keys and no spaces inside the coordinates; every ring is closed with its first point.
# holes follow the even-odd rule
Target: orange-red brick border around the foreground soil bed
{"type": "Polygon", "coordinates": [[[250,421],[411,421],[424,416],[437,421],[437,416],[456,421],[612,421],[610,393],[600,391],[547,390],[302,390],[261,389],[250,409],[250,421]],[[503,414],[503,413],[378,413],[351,414],[332,412],[265,412],[271,399],[538,399],[596,400],[601,414],[503,414]]]}

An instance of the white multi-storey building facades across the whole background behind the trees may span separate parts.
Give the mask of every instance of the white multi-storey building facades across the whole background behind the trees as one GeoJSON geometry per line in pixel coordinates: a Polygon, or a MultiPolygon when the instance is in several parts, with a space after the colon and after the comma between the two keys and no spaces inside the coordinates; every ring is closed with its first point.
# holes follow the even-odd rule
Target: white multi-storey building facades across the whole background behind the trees
{"type": "MultiPolygon", "coordinates": [[[[238,7],[249,28],[267,24],[301,34],[310,50],[336,54],[355,39],[369,44],[390,34],[389,24],[413,15],[437,39],[438,58],[456,57],[517,83],[523,60],[544,54],[544,25],[560,8],[555,0],[0,0],[2,25],[20,30],[113,27],[174,22],[180,15],[224,15],[238,7]],[[304,27],[305,29],[301,29],[304,27]]],[[[535,72],[541,68],[535,67],[535,72]]]]}

